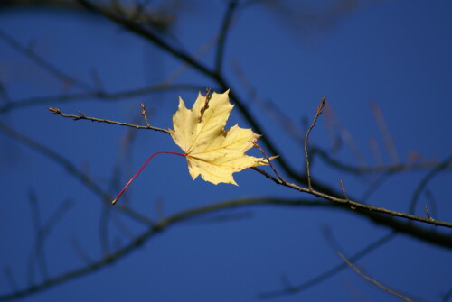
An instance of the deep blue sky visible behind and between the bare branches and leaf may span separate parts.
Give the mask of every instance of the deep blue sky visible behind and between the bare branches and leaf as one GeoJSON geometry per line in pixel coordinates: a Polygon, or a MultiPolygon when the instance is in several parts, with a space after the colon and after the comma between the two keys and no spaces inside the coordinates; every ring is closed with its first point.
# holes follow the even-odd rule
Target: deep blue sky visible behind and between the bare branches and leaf
{"type": "MultiPolygon", "coordinates": [[[[327,97],[333,110],[335,132],[346,130],[351,135],[368,166],[378,164],[372,155],[372,140],[378,143],[384,163],[391,164],[372,103],[384,114],[400,162],[409,161],[410,154],[418,154],[424,160],[445,160],[450,155],[452,4],[449,1],[363,1],[347,14],[325,14],[309,19],[310,22],[303,19],[307,8],[293,3],[290,7],[293,16],[265,3],[240,9],[233,20],[224,56],[224,73],[231,89],[246,100],[268,138],[277,143],[281,157],[298,170],[304,167],[302,145],[278,124],[271,114],[274,110],[268,110],[266,104],[278,106],[284,120],[294,124],[297,133],[303,136],[303,121],[311,120],[322,96],[327,97]],[[258,97],[251,96],[237,69],[258,97]]],[[[200,59],[208,66],[212,66],[213,41],[225,8],[223,1],[193,1],[175,14],[172,32],[178,43],[192,54],[205,50],[200,59]]],[[[33,43],[33,50],[42,58],[85,82],[93,83],[95,70],[107,91],[159,84],[169,78],[174,84],[214,87],[212,80],[184,69],[180,61],[106,20],[34,9],[0,14],[3,32],[24,45],[33,43]]],[[[42,71],[5,41],[0,41],[0,82],[14,102],[32,96],[81,91],[77,87],[64,90],[60,80],[42,71]]],[[[67,114],[80,110],[89,116],[141,124],[139,103],[144,102],[150,123],[170,128],[178,96],[192,105],[196,94],[194,90],[178,90],[111,102],[51,102],[1,114],[0,121],[72,160],[115,196],[152,153],[179,151],[178,147],[163,133],[73,122],[50,114],[47,107],[56,106],[67,114]],[[124,148],[127,135],[134,135],[130,150],[124,148]],[[112,188],[110,180],[117,165],[121,167],[120,179],[112,188]]],[[[324,114],[315,126],[311,142],[331,150],[333,142],[325,120],[324,114]]],[[[234,109],[229,125],[236,123],[249,127],[234,109]]],[[[4,243],[0,259],[3,267],[13,271],[17,286],[26,288],[30,277],[27,267],[35,230],[29,192],[36,196],[42,222],[61,204],[71,203],[46,237],[44,249],[50,276],[85,264],[74,249],[74,241],[89,258],[101,258],[99,222],[103,206],[99,197],[60,165],[2,132],[0,143],[0,238],[4,243]]],[[[334,156],[358,164],[347,144],[334,156]]],[[[367,202],[408,211],[413,192],[428,171],[392,176],[367,202]]],[[[347,193],[357,198],[375,180],[331,169],[321,160],[315,161],[312,172],[315,178],[338,190],[339,180],[343,180],[347,193]]],[[[158,219],[222,200],[308,198],[278,187],[252,170],[242,171],[234,178],[239,187],[214,186],[201,178],[193,181],[184,159],[159,155],[120,202],[158,219]]],[[[451,221],[451,180],[449,172],[433,178],[428,184],[431,197],[420,197],[416,214],[424,216],[423,206],[428,205],[434,209],[435,217],[451,221]]],[[[341,263],[335,248],[325,238],[325,228],[347,255],[390,232],[353,213],[325,208],[260,206],[225,214],[236,218],[215,222],[204,217],[175,225],[105,269],[24,300],[252,301],[261,292],[282,288],[281,276],[297,285],[341,263]]],[[[116,218],[132,234],[145,230],[142,224],[132,223],[124,216],[116,218]]],[[[109,222],[108,230],[111,250],[127,243],[127,236],[115,224],[109,222]]],[[[452,286],[448,281],[452,279],[450,252],[406,235],[397,235],[357,264],[372,278],[415,300],[440,300],[452,286]]],[[[34,281],[40,283],[40,271],[34,270],[34,281]]],[[[11,290],[5,276],[0,277],[0,289],[2,294],[11,290]]],[[[396,300],[352,270],[343,270],[297,295],[273,300],[301,299],[396,300]]]]}

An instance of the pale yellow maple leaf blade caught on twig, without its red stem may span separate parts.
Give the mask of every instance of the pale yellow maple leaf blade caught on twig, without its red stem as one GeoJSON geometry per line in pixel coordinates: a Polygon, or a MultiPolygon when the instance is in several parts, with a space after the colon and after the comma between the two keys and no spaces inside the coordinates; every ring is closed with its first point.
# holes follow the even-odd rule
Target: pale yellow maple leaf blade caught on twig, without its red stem
{"type": "MultiPolygon", "coordinates": [[[[242,169],[267,165],[268,160],[245,154],[259,134],[238,124],[228,130],[224,126],[234,105],[229,102],[229,90],[223,94],[202,96],[192,109],[185,107],[179,96],[179,106],[173,115],[174,142],[185,152],[188,169],[193,180],[201,175],[205,181],[237,185],[232,173],[242,169]]],[[[273,158],[270,158],[272,160],[273,158]]]]}

